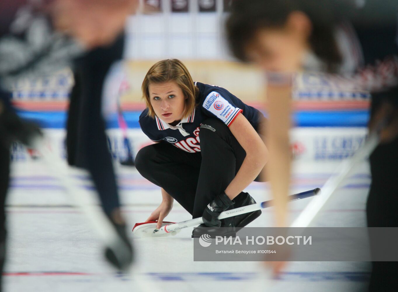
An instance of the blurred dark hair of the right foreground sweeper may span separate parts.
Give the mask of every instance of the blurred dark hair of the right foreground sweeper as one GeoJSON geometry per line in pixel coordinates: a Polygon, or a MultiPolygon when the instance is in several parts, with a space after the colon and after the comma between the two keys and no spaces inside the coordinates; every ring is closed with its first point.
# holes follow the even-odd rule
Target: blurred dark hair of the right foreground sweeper
{"type": "MultiPolygon", "coordinates": [[[[330,71],[334,71],[341,63],[333,33],[336,23],[344,16],[341,7],[338,0],[234,0],[226,21],[230,51],[239,60],[247,62],[246,45],[259,29],[282,27],[291,12],[301,11],[312,22],[308,40],[312,50],[330,71]]],[[[348,7],[351,6],[344,10],[347,13],[348,7]]]]}

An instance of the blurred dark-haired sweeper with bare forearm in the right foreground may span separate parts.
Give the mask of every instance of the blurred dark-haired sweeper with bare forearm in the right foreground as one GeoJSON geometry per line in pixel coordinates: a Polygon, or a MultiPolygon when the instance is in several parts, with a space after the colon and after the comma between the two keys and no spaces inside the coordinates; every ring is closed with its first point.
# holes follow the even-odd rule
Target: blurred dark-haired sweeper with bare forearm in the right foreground
{"type": "MultiPolygon", "coordinates": [[[[396,1],[235,0],[226,23],[234,56],[267,76],[267,174],[275,224],[287,227],[291,160],[288,131],[296,72],[326,72],[372,94],[369,130],[380,121],[371,154],[368,227],[398,226],[398,47],[396,1]],[[343,76],[343,78],[341,78],[343,76]]],[[[284,262],[270,263],[279,272],[284,262]]],[[[373,262],[369,291],[397,291],[397,262],[373,262]],[[383,288],[381,288],[383,287],[383,288]]]]}

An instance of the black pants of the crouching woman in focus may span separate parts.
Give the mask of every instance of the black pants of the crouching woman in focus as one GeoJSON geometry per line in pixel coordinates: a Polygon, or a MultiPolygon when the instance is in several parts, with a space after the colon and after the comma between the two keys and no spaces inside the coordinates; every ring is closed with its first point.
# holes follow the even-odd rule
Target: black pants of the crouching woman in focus
{"type": "Polygon", "coordinates": [[[201,152],[188,153],[160,142],[142,148],[135,158],[139,173],[162,187],[193,218],[201,217],[206,205],[228,187],[246,157],[224,123],[210,118],[203,124],[215,131],[200,128],[201,152]]]}

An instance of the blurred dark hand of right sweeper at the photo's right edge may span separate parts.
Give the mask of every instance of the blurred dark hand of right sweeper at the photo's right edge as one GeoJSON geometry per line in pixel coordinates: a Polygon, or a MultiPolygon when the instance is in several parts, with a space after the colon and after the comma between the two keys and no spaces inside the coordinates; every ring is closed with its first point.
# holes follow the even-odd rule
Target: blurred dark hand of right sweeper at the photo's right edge
{"type": "Polygon", "coordinates": [[[379,130],[380,143],[388,143],[398,136],[398,108],[383,103],[369,122],[369,131],[379,130]]]}

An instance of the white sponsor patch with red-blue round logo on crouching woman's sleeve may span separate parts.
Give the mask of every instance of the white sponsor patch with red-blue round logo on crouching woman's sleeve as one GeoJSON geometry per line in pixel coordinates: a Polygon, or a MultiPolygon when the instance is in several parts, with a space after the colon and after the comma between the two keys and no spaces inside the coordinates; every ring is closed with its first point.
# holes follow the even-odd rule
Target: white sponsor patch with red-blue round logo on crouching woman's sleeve
{"type": "Polygon", "coordinates": [[[242,111],[240,108],[231,105],[229,101],[216,91],[212,91],[207,95],[205,101],[203,101],[203,108],[210,111],[227,126],[229,126],[235,117],[242,111]]]}

